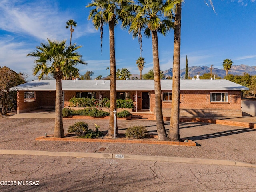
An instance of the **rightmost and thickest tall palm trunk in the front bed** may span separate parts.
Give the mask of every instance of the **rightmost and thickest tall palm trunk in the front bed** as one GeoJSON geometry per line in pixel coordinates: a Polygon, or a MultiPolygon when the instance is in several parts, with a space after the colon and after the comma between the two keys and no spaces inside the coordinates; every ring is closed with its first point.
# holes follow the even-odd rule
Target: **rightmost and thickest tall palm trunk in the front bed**
{"type": "Polygon", "coordinates": [[[181,34],[181,3],[176,4],[174,22],[174,50],[172,76],[172,110],[170,129],[166,140],[180,140],[180,34],[181,34]]]}

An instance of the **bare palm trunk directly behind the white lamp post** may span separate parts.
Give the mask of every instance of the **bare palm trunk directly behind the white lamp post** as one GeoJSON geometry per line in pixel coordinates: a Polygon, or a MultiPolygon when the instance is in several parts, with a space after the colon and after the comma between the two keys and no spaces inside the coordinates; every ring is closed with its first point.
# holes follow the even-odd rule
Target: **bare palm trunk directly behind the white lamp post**
{"type": "MultiPolygon", "coordinates": [[[[106,137],[114,136],[114,109],[116,110],[116,57],[115,57],[115,33],[114,18],[109,22],[109,50],[110,50],[110,114],[108,134],[106,137]]],[[[117,118],[116,118],[117,119],[117,118]]],[[[116,134],[118,134],[116,121],[116,134]]]]}

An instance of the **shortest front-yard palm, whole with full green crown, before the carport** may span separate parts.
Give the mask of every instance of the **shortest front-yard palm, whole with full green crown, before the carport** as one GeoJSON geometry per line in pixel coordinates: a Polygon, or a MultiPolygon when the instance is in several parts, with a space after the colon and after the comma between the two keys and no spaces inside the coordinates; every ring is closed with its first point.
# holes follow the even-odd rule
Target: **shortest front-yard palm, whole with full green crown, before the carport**
{"type": "Polygon", "coordinates": [[[78,54],[77,50],[82,46],[72,44],[66,46],[66,41],[51,41],[48,43],[41,43],[36,50],[29,53],[27,56],[35,58],[33,74],[38,72],[38,78],[42,79],[44,75],[53,74],[56,80],[56,97],[55,97],[55,126],[54,137],[64,137],[63,120],[62,120],[62,77],[63,71],[66,70],[67,60],[74,62],[74,64],[86,64],[82,60],[82,55],[78,54]]]}

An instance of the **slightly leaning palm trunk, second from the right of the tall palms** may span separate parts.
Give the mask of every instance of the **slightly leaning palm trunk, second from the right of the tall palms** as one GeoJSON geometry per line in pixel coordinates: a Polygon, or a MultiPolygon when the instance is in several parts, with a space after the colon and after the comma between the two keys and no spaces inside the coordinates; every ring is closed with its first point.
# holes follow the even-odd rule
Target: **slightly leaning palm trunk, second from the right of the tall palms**
{"type": "Polygon", "coordinates": [[[166,130],[164,128],[164,119],[162,112],[162,99],[161,99],[161,78],[160,78],[160,66],[158,57],[158,37],[157,31],[152,31],[152,50],[153,50],[153,72],[155,82],[155,103],[156,103],[156,130],[158,134],[158,140],[166,140],[166,130]]]}

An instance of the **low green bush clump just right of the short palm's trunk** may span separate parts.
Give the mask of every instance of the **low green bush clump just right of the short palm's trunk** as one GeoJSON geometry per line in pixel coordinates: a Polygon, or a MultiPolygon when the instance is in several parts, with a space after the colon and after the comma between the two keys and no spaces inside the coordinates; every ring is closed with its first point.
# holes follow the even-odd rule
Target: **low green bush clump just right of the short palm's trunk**
{"type": "Polygon", "coordinates": [[[89,129],[88,124],[83,121],[76,122],[74,125],[69,126],[68,133],[74,133],[79,138],[95,138],[102,136],[102,132],[89,129]]]}

